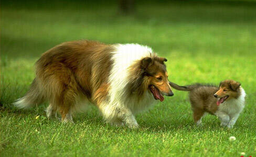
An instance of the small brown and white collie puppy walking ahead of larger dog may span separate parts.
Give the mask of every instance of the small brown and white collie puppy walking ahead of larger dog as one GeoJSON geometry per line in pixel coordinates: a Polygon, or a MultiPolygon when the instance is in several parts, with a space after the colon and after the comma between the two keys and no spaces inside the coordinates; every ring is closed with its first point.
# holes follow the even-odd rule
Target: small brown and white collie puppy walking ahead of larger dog
{"type": "Polygon", "coordinates": [[[225,80],[219,87],[201,84],[179,86],[173,82],[170,82],[170,86],[180,91],[189,91],[197,125],[201,124],[205,113],[210,113],[219,117],[221,126],[232,128],[244,107],[246,93],[240,83],[233,80],[225,80]]]}

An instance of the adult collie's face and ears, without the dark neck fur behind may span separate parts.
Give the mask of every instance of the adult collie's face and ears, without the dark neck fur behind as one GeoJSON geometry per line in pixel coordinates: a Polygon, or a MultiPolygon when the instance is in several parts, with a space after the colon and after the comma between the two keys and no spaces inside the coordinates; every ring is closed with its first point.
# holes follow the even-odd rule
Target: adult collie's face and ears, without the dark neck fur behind
{"type": "Polygon", "coordinates": [[[163,102],[164,97],[173,96],[173,91],[170,88],[168,81],[168,73],[164,62],[167,59],[159,57],[146,57],[141,60],[141,66],[144,70],[143,75],[148,79],[148,89],[153,94],[155,99],[163,102]]]}

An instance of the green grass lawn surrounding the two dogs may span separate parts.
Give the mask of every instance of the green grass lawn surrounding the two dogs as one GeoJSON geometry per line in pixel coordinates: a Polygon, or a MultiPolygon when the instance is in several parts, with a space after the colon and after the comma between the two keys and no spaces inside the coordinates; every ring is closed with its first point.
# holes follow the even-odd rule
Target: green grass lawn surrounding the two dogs
{"type": "Polygon", "coordinates": [[[0,156],[256,155],[255,3],[137,4],[130,16],[110,4],[55,5],[1,6],[0,156]],[[77,114],[74,125],[48,120],[47,104],[14,108],[11,103],[35,77],[40,54],[78,39],[146,44],[168,59],[170,80],[178,84],[240,81],[246,107],[233,129],[221,128],[214,116],[206,116],[198,128],[187,93],[174,91],[174,97],[136,116],[138,130],[104,124],[95,107],[77,114]],[[230,136],[237,140],[230,142],[230,136]]]}

